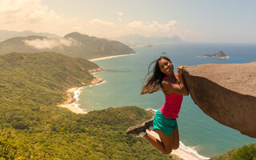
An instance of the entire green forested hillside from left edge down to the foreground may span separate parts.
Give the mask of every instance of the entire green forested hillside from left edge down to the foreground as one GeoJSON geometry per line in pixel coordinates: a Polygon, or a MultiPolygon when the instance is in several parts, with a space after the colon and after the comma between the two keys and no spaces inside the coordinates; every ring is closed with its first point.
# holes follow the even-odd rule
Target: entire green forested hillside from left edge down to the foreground
{"type": "Polygon", "coordinates": [[[168,159],[128,126],[135,106],[74,114],[58,107],[67,88],[90,82],[94,63],[53,52],[0,56],[0,159],[168,159]]]}

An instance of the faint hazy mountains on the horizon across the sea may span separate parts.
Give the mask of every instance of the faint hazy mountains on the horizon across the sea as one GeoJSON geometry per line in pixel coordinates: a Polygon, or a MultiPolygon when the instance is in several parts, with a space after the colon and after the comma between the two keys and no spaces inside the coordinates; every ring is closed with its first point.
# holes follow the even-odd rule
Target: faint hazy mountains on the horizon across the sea
{"type": "Polygon", "coordinates": [[[114,38],[117,41],[123,42],[128,46],[138,46],[146,44],[155,44],[155,43],[179,43],[183,42],[182,38],[178,36],[174,37],[144,37],[138,34],[128,34],[114,38]]]}

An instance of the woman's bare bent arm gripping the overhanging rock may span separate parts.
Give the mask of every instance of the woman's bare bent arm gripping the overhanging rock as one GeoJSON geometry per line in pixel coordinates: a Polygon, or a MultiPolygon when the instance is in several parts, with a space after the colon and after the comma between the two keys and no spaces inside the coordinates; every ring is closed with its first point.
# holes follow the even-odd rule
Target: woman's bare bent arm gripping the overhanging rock
{"type": "Polygon", "coordinates": [[[180,95],[189,95],[186,89],[186,83],[182,76],[183,68],[186,66],[178,66],[178,83],[172,83],[169,81],[162,81],[162,87],[165,94],[180,94],[180,95]]]}

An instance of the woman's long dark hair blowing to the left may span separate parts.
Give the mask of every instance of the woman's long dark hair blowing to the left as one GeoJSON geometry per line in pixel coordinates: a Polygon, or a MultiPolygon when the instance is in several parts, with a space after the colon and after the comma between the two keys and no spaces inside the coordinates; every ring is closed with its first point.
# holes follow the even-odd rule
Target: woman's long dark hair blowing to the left
{"type": "Polygon", "coordinates": [[[150,66],[148,68],[148,74],[146,76],[148,78],[146,79],[145,85],[143,85],[143,87],[142,87],[141,94],[152,94],[152,93],[162,89],[162,78],[164,78],[166,76],[166,74],[162,73],[162,71],[160,70],[159,65],[158,65],[158,62],[162,59],[166,59],[167,61],[171,62],[171,60],[169,58],[166,58],[165,56],[161,56],[154,62],[150,63],[150,66]],[[154,63],[155,63],[154,68],[153,68],[153,70],[150,71],[150,67],[154,63]],[[153,74],[152,74],[152,72],[153,72],[153,74]],[[150,75],[150,74],[152,74],[152,75],[150,75]]]}

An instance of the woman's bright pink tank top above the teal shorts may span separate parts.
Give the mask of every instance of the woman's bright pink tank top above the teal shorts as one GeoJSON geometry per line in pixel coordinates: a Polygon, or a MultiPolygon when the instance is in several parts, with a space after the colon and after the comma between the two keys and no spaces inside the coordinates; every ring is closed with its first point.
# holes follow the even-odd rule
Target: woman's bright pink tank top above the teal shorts
{"type": "MultiPolygon", "coordinates": [[[[173,82],[170,78],[163,78],[163,80],[168,80],[173,82]]],[[[166,116],[166,118],[178,118],[179,110],[181,110],[182,106],[182,99],[183,96],[179,94],[165,94],[166,95],[166,102],[161,107],[161,113],[166,116]]]]}

